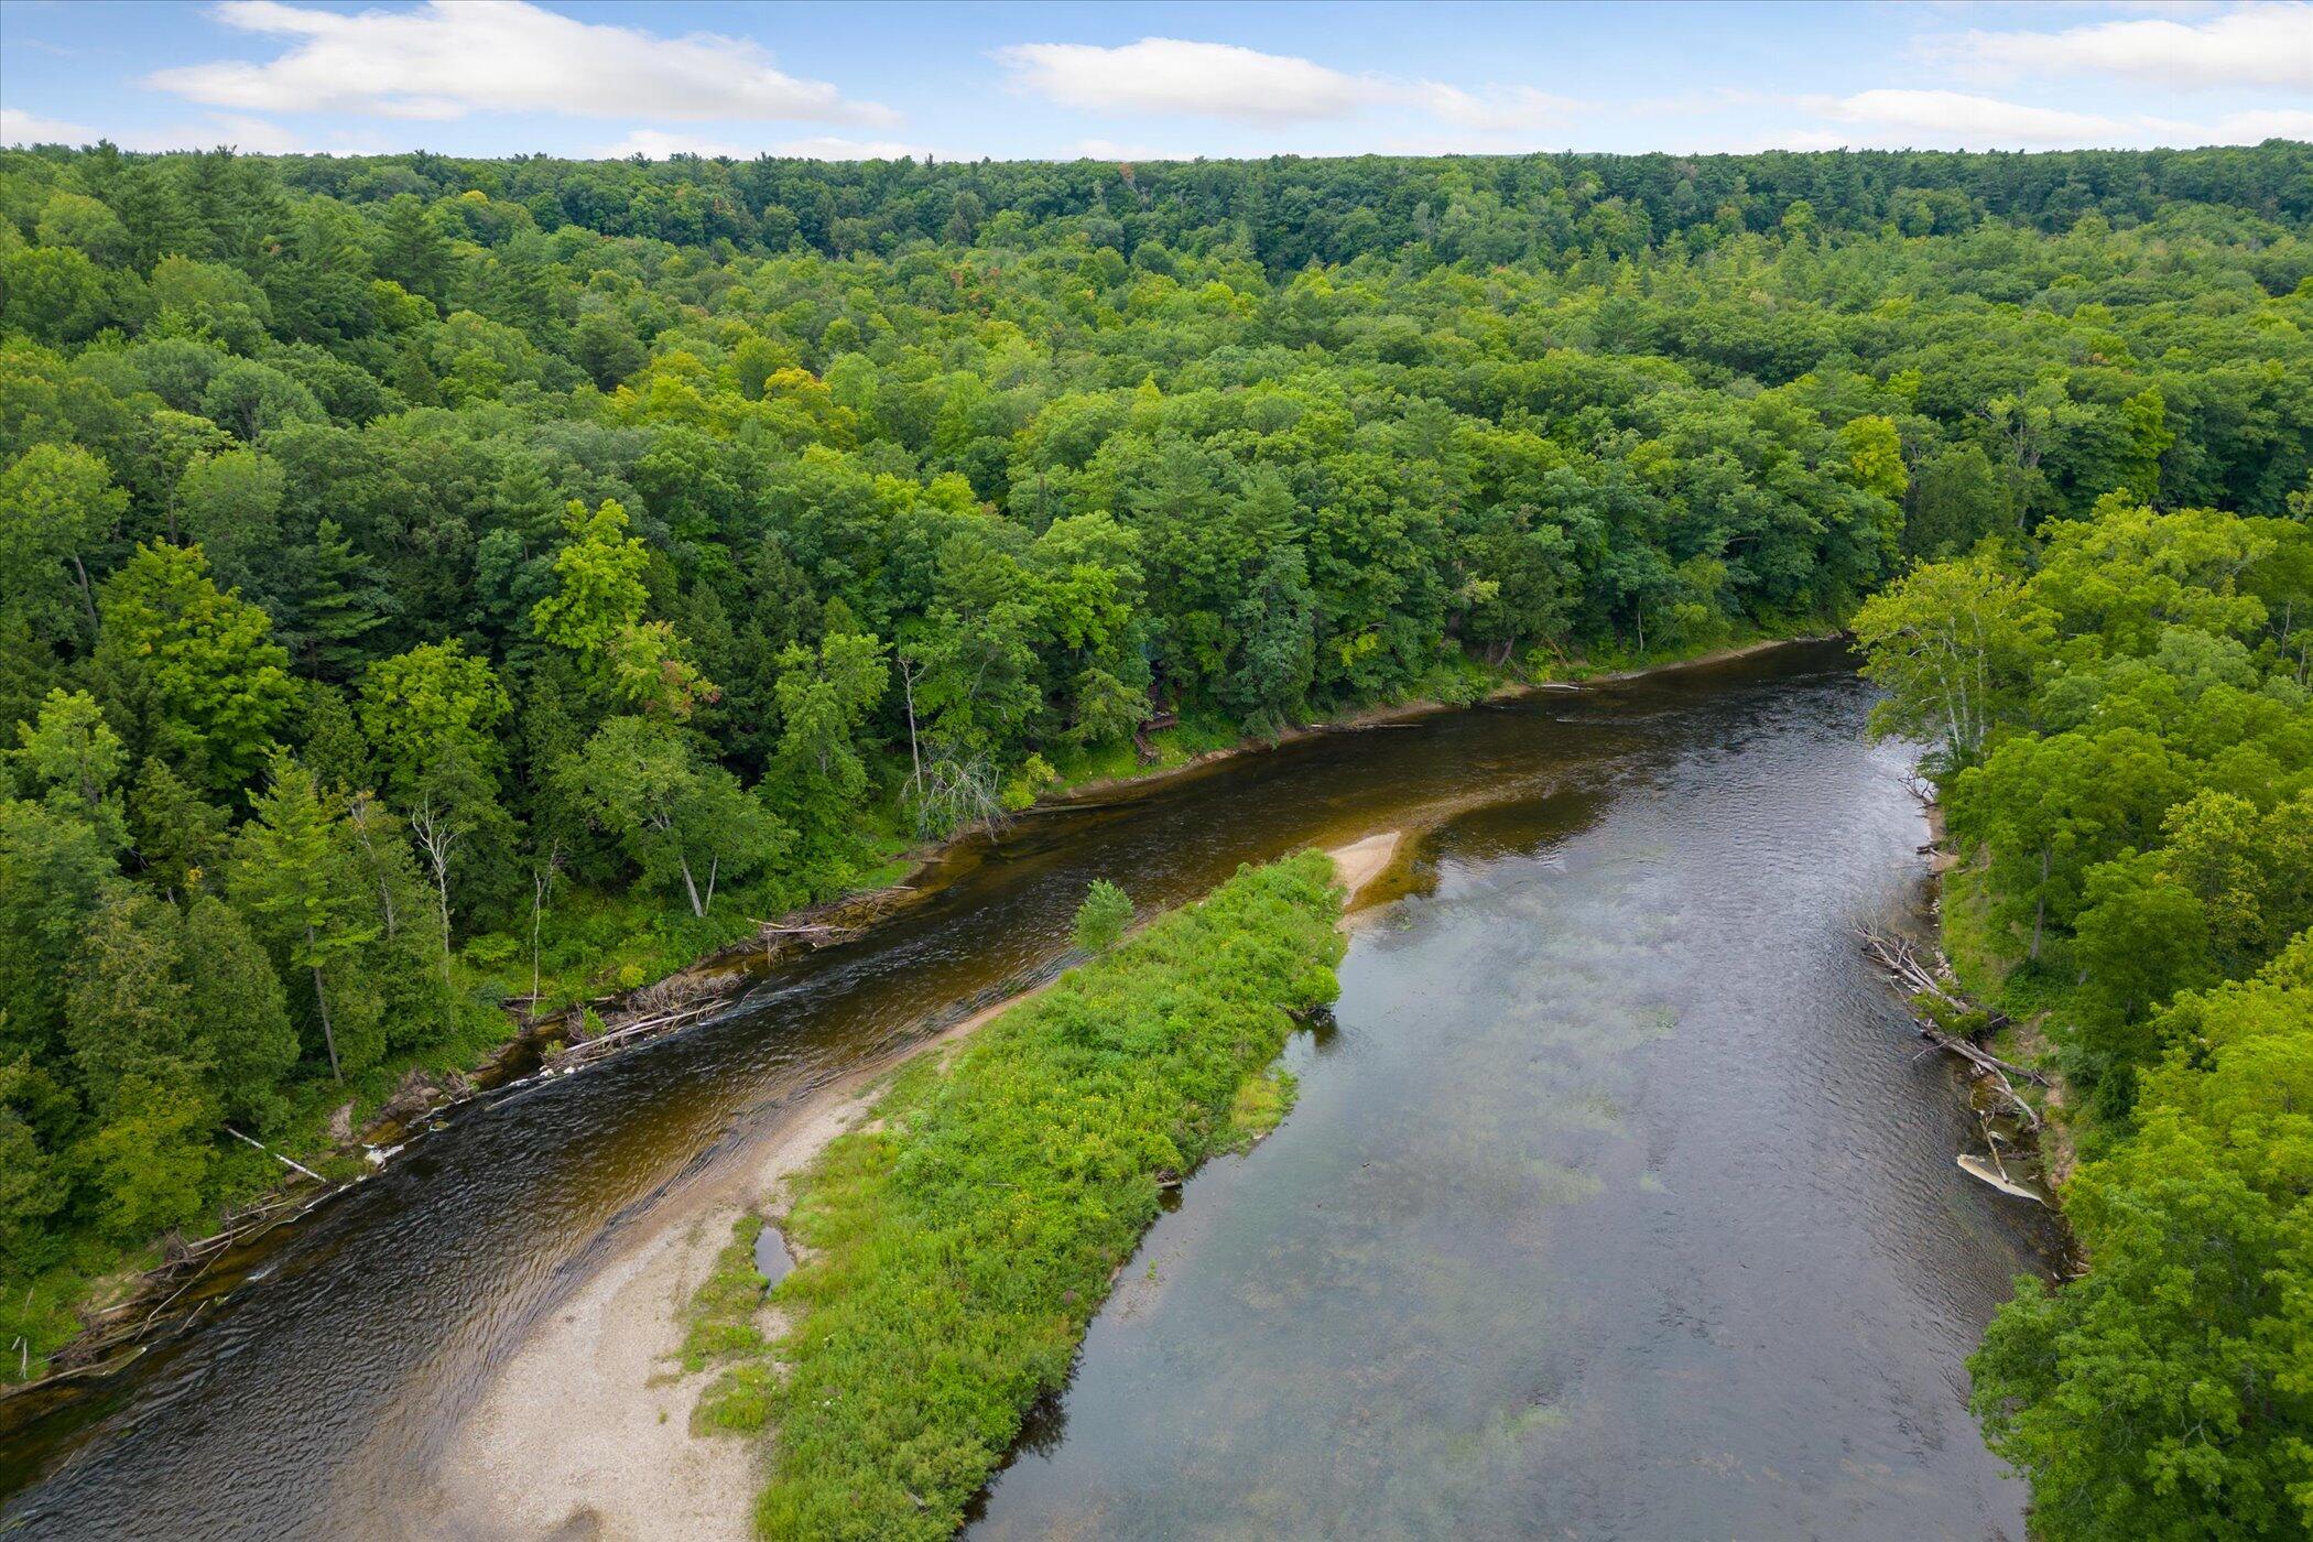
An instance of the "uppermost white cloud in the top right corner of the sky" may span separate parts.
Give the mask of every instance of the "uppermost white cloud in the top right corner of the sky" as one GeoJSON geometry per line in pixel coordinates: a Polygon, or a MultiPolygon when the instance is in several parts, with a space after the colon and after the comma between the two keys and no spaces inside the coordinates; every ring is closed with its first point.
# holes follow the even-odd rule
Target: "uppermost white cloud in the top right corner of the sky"
{"type": "Polygon", "coordinates": [[[1994,72],[2313,90],[2313,5],[2253,5],[2207,21],[2103,21],[2063,32],[1978,30],[1957,39],[1957,53],[1994,72]]]}

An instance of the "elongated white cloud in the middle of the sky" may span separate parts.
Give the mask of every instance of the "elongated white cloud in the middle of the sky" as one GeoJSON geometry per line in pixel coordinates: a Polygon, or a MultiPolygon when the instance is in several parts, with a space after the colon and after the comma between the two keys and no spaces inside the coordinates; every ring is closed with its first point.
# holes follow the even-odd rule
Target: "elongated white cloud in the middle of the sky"
{"type": "Polygon", "coordinates": [[[1122,49],[1015,44],[997,49],[997,62],[1041,97],[1110,113],[1309,123],[1355,113],[1388,88],[1286,53],[1177,37],[1143,37],[1122,49]]]}

